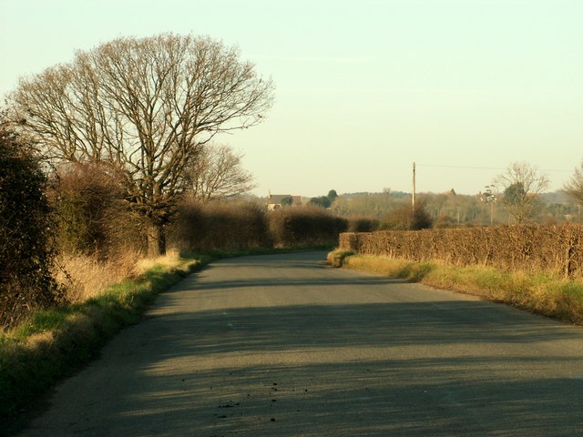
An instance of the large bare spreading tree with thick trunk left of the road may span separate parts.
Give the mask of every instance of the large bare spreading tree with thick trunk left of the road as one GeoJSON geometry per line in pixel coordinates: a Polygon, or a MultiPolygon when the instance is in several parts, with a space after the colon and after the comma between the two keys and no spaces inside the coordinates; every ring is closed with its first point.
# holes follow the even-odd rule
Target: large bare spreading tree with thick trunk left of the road
{"type": "Polygon", "coordinates": [[[9,101],[49,158],[113,163],[147,220],[148,254],[188,186],[185,170],[219,132],[251,127],[271,107],[271,80],[236,48],[197,36],[118,38],[20,81],[9,101]]]}

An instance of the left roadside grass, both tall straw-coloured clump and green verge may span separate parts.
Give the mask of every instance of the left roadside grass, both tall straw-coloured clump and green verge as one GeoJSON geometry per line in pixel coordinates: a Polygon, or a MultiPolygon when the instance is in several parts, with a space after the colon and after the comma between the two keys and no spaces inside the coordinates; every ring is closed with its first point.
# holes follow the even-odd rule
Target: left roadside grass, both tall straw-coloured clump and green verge
{"type": "Polygon", "coordinates": [[[127,253],[115,263],[87,257],[62,261],[71,271],[62,279],[77,304],[37,311],[0,333],[0,422],[90,361],[105,341],[140,320],[160,292],[203,265],[176,252],[139,261],[127,253]]]}

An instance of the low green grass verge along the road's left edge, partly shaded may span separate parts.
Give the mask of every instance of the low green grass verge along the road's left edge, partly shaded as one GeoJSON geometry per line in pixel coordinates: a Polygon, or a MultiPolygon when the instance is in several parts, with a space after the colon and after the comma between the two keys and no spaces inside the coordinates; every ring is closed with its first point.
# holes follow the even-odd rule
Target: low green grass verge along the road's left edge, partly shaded
{"type": "Polygon", "coordinates": [[[96,356],[114,334],[141,319],[158,294],[210,262],[209,256],[154,263],[132,278],[70,307],[37,312],[0,334],[0,417],[96,356]]]}

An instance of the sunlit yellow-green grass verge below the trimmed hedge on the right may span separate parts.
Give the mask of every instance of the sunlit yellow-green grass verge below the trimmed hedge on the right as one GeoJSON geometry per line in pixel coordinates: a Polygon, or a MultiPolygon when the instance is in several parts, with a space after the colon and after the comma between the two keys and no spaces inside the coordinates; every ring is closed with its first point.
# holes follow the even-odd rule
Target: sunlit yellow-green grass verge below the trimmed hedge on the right
{"type": "Polygon", "coordinates": [[[329,263],[336,267],[455,290],[583,325],[581,280],[560,278],[546,272],[509,272],[485,266],[459,268],[438,261],[414,262],[338,252],[342,251],[333,250],[328,255],[329,263]]]}

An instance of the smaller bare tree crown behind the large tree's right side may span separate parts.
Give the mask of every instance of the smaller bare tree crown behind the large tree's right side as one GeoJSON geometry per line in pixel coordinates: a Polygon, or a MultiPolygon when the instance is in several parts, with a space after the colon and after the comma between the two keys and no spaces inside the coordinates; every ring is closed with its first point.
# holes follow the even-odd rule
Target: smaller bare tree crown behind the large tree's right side
{"type": "Polygon", "coordinates": [[[227,145],[205,144],[189,164],[189,190],[202,202],[234,198],[251,191],[251,173],[241,167],[242,154],[227,145]]]}

